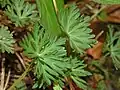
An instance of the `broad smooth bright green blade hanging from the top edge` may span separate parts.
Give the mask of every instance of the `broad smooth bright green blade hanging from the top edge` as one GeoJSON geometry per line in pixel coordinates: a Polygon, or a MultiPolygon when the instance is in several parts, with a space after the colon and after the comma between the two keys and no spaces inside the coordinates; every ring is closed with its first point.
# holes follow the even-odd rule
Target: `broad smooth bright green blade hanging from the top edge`
{"type": "Polygon", "coordinates": [[[45,30],[53,35],[60,34],[60,27],[58,24],[53,0],[36,0],[37,7],[40,14],[40,20],[45,30]]]}

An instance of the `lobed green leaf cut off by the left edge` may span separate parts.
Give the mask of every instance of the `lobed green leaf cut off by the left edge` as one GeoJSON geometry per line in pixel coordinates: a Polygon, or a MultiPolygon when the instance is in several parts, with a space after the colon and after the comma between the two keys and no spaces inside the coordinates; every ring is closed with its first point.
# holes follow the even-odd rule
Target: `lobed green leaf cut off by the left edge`
{"type": "Polygon", "coordinates": [[[5,26],[0,26],[0,52],[13,53],[14,39],[12,33],[5,26]]]}

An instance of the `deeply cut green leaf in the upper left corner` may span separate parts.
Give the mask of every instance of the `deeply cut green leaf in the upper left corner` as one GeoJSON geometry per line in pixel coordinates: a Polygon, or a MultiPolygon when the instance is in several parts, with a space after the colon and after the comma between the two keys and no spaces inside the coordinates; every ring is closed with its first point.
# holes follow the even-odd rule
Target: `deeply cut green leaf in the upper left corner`
{"type": "Polygon", "coordinates": [[[12,0],[5,13],[16,26],[24,26],[39,20],[35,9],[35,4],[25,3],[24,0],[12,0]]]}

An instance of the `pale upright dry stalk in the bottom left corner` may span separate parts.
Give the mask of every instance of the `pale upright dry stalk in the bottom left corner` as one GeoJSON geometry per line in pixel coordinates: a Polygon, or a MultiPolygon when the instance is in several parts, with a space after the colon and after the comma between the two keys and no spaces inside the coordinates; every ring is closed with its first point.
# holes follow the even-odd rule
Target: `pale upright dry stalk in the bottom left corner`
{"type": "Polygon", "coordinates": [[[4,67],[4,62],[5,62],[5,58],[2,59],[2,63],[1,63],[1,86],[0,86],[0,90],[3,90],[4,88],[4,78],[5,78],[5,67],[4,67]]]}

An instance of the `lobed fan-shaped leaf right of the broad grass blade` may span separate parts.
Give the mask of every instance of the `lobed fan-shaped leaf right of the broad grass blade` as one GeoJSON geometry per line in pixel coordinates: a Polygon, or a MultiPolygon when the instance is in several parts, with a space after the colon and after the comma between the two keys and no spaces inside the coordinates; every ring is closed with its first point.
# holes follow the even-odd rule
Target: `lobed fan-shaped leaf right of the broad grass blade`
{"type": "Polygon", "coordinates": [[[89,18],[81,16],[75,4],[69,5],[59,14],[59,22],[70,46],[79,53],[83,53],[95,43],[91,34],[89,18]]]}

